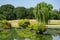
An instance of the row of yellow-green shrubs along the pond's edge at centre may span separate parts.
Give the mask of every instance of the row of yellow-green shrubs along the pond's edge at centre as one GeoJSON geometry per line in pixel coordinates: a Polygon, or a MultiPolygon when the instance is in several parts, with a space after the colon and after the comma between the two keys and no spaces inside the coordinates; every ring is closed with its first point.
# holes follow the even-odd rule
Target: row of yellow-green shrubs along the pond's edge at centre
{"type": "MultiPolygon", "coordinates": [[[[20,28],[24,28],[26,29],[27,31],[31,31],[31,32],[34,32],[36,34],[43,34],[44,31],[46,31],[46,26],[44,23],[34,23],[34,24],[30,24],[29,20],[21,20],[19,22],[19,27],[20,28]]],[[[25,31],[26,31],[25,30],[25,31]]]]}

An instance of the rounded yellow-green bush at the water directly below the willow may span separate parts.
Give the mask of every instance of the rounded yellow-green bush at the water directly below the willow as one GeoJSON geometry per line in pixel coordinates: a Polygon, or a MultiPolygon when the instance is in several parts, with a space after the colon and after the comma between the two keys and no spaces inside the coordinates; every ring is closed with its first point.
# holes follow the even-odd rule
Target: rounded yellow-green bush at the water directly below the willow
{"type": "Polygon", "coordinates": [[[37,34],[43,34],[43,32],[46,31],[46,26],[43,23],[41,24],[37,23],[36,25],[34,25],[33,29],[37,34]]]}

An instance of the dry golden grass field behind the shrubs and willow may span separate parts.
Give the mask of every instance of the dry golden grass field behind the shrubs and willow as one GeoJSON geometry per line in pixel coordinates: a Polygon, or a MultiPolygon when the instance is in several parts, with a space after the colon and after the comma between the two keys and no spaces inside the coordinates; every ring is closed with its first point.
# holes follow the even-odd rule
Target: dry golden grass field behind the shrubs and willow
{"type": "MultiPolygon", "coordinates": [[[[10,22],[13,27],[15,27],[15,26],[18,27],[18,22],[22,21],[22,20],[24,20],[24,19],[9,20],[8,22],[10,22]]],[[[29,21],[30,21],[31,24],[35,24],[36,23],[36,20],[34,20],[34,19],[29,19],[29,21]]],[[[60,20],[49,20],[48,21],[48,25],[60,25],[60,20]]]]}

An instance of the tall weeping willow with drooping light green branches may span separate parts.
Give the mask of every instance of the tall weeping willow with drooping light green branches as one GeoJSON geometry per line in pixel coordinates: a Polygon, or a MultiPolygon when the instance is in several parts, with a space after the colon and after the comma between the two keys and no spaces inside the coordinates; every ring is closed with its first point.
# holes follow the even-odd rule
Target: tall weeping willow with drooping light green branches
{"type": "Polygon", "coordinates": [[[49,11],[51,11],[53,6],[51,4],[47,4],[45,2],[41,2],[37,4],[37,6],[34,8],[34,14],[35,18],[40,23],[46,23],[49,18],[49,11]]]}

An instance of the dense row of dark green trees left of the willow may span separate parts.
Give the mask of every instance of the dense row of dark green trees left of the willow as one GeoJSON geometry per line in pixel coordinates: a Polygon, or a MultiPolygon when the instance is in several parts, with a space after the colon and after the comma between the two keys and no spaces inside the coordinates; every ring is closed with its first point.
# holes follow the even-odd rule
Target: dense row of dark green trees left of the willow
{"type": "Polygon", "coordinates": [[[34,8],[14,7],[11,4],[0,6],[0,20],[14,20],[14,19],[33,19],[34,8]]]}

